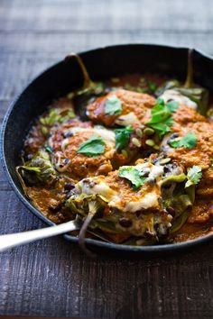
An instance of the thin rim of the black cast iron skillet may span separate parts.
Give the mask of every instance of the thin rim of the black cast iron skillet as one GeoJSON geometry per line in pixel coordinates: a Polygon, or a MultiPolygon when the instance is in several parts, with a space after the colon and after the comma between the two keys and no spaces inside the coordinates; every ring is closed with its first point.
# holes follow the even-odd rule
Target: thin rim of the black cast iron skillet
{"type": "MultiPolygon", "coordinates": [[[[108,50],[108,49],[113,49],[113,48],[122,48],[122,47],[146,47],[146,48],[162,48],[162,49],[173,49],[173,50],[189,50],[191,48],[184,47],[184,46],[175,46],[175,45],[163,45],[163,44],[154,44],[154,43],[122,43],[122,44],[116,44],[116,45],[111,45],[111,46],[104,46],[92,50],[85,50],[79,52],[79,56],[82,56],[87,53],[92,53],[94,51],[98,50],[108,50]]],[[[199,49],[193,49],[196,51],[196,53],[199,54],[199,56],[203,59],[209,59],[213,62],[213,58],[204,52],[203,50],[199,49]]],[[[9,107],[7,108],[7,111],[4,116],[4,120],[2,123],[2,129],[1,129],[1,137],[0,137],[0,154],[1,154],[1,162],[3,169],[6,173],[7,179],[9,180],[10,185],[13,187],[15,194],[18,196],[18,198],[21,200],[23,205],[27,207],[27,209],[32,213],[35,214],[38,218],[40,218],[44,223],[47,223],[49,225],[55,225],[55,223],[51,222],[47,217],[45,217],[39,210],[37,210],[23,194],[19,191],[18,187],[16,187],[14,183],[14,179],[12,178],[9,169],[7,167],[6,163],[6,157],[5,157],[5,132],[7,129],[7,123],[10,118],[10,115],[14,109],[14,105],[18,103],[20,97],[23,95],[23,93],[31,87],[33,82],[35,80],[38,80],[39,77],[42,77],[45,73],[49,72],[51,68],[57,68],[57,66],[60,65],[60,63],[63,60],[59,60],[58,62],[54,63],[51,65],[49,68],[45,68],[42,72],[40,72],[38,75],[32,78],[32,80],[21,90],[17,96],[14,97],[14,100],[11,102],[9,107]]],[[[63,234],[63,237],[68,240],[69,242],[78,242],[78,237],[71,236],[69,234],[63,234]]],[[[187,242],[176,242],[176,243],[169,243],[169,244],[159,244],[159,245],[153,245],[153,246],[133,246],[133,245],[124,245],[124,244],[117,244],[117,243],[108,243],[108,242],[101,242],[99,240],[94,240],[94,239],[86,239],[86,244],[89,246],[101,248],[101,249],[106,249],[108,251],[123,251],[123,252],[139,252],[139,253],[154,253],[154,255],[163,253],[163,252],[176,252],[176,251],[183,251],[190,249],[191,247],[198,246],[200,244],[203,244],[205,242],[209,242],[210,240],[213,239],[213,233],[210,233],[206,236],[199,237],[194,240],[190,240],[187,242]]]]}

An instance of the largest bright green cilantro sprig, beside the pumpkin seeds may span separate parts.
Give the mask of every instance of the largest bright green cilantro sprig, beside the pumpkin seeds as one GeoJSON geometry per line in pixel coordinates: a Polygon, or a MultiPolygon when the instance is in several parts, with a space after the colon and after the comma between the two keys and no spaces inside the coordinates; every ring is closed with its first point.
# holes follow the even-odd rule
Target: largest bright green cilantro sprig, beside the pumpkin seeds
{"type": "Polygon", "coordinates": [[[152,118],[145,124],[149,127],[152,127],[153,130],[162,137],[167,132],[171,132],[171,125],[173,119],[171,114],[176,112],[179,108],[179,103],[172,101],[168,104],[165,104],[162,98],[158,98],[156,105],[154,105],[151,114],[152,118]]]}

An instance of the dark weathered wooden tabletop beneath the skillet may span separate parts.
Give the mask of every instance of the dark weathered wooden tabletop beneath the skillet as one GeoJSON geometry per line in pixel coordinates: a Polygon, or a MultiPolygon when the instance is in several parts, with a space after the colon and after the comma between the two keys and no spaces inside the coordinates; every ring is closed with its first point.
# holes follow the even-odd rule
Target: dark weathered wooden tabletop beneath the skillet
{"type": "MultiPolygon", "coordinates": [[[[0,0],[0,120],[14,96],[69,51],[127,42],[213,54],[211,0],[0,0]]],[[[1,169],[0,232],[44,227],[1,169]]],[[[0,314],[212,318],[213,243],[158,259],[90,260],[62,237],[0,255],[0,314]]]]}

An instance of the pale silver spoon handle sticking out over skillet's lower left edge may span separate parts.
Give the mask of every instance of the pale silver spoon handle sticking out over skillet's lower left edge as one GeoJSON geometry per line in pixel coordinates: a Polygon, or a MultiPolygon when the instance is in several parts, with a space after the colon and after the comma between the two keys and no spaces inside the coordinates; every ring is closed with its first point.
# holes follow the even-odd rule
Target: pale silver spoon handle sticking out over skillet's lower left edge
{"type": "Polygon", "coordinates": [[[74,221],[60,223],[47,228],[36,229],[28,232],[9,233],[0,236],[0,252],[9,248],[23,245],[23,243],[34,242],[43,238],[59,235],[64,232],[79,230],[74,221]]]}

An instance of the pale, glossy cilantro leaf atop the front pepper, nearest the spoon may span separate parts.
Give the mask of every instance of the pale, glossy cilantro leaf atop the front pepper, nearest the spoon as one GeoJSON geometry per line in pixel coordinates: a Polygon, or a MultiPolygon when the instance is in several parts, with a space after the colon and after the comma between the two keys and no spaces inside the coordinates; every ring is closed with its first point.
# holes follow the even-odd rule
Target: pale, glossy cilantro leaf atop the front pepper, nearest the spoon
{"type": "Polygon", "coordinates": [[[120,178],[128,179],[133,184],[134,188],[144,185],[144,182],[147,178],[144,178],[143,175],[144,172],[141,172],[139,169],[136,169],[133,166],[126,166],[120,168],[118,171],[118,176],[120,178]]]}

